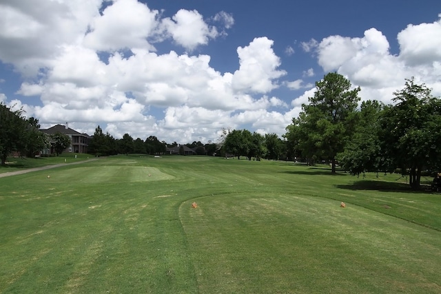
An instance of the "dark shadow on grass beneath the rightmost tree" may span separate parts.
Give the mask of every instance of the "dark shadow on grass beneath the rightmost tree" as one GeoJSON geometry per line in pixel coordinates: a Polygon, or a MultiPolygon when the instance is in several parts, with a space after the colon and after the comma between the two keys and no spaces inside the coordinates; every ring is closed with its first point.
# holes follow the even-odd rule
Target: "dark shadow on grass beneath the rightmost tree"
{"type": "Polygon", "coordinates": [[[339,189],[347,190],[375,190],[382,192],[402,192],[402,193],[427,193],[431,191],[428,185],[421,185],[420,190],[413,190],[409,184],[401,182],[380,182],[377,180],[358,180],[352,185],[335,185],[339,189]]]}

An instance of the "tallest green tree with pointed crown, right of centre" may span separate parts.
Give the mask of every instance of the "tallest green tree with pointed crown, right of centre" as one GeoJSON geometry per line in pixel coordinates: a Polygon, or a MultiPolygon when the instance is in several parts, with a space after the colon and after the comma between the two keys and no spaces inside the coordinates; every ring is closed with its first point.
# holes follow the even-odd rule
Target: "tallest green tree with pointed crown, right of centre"
{"type": "MultiPolygon", "coordinates": [[[[309,105],[289,127],[298,138],[302,155],[331,160],[336,172],[336,156],[342,152],[353,132],[360,87],[351,90],[351,82],[341,74],[330,72],[316,82],[316,92],[309,105]]],[[[291,137],[291,136],[289,136],[291,137]]]]}

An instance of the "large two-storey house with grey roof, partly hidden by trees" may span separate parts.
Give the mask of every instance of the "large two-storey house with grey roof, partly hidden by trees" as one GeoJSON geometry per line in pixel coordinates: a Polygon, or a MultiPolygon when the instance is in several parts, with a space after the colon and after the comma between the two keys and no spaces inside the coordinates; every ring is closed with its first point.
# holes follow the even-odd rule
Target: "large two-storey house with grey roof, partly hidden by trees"
{"type": "MultiPolygon", "coordinates": [[[[72,143],[70,147],[68,147],[68,149],[65,149],[65,151],[67,152],[88,153],[88,145],[91,137],[88,134],[81,134],[79,132],[76,132],[74,129],[71,129],[68,123],[66,123],[66,125],[54,125],[49,129],[40,129],[40,130],[41,132],[48,135],[52,135],[57,132],[68,135],[72,143]]],[[[41,153],[42,154],[55,153],[54,147],[52,147],[52,142],[50,149],[43,150],[41,153]]]]}

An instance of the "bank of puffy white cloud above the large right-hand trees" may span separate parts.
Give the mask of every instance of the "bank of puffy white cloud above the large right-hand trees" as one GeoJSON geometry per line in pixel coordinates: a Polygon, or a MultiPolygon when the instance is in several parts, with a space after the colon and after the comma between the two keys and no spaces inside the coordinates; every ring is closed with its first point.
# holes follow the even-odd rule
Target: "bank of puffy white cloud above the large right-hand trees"
{"type": "Polygon", "coordinates": [[[435,35],[440,34],[440,28],[439,21],[409,25],[398,34],[398,56],[389,52],[386,36],[375,28],[366,30],[361,38],[328,36],[320,41],[315,54],[325,72],[337,71],[353,85],[360,85],[363,100],[391,103],[393,92],[403,87],[404,78],[411,76],[433,87],[433,94],[439,95],[441,43],[435,35]],[[420,40],[422,31],[432,38],[420,40]]]}

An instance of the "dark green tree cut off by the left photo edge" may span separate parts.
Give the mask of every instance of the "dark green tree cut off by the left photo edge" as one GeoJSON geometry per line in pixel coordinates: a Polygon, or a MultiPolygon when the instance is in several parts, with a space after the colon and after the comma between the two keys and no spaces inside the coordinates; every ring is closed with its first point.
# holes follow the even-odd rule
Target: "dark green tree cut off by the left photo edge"
{"type": "Polygon", "coordinates": [[[0,103],[0,157],[1,165],[6,165],[6,158],[12,151],[23,148],[26,123],[21,109],[11,111],[0,103]]]}

